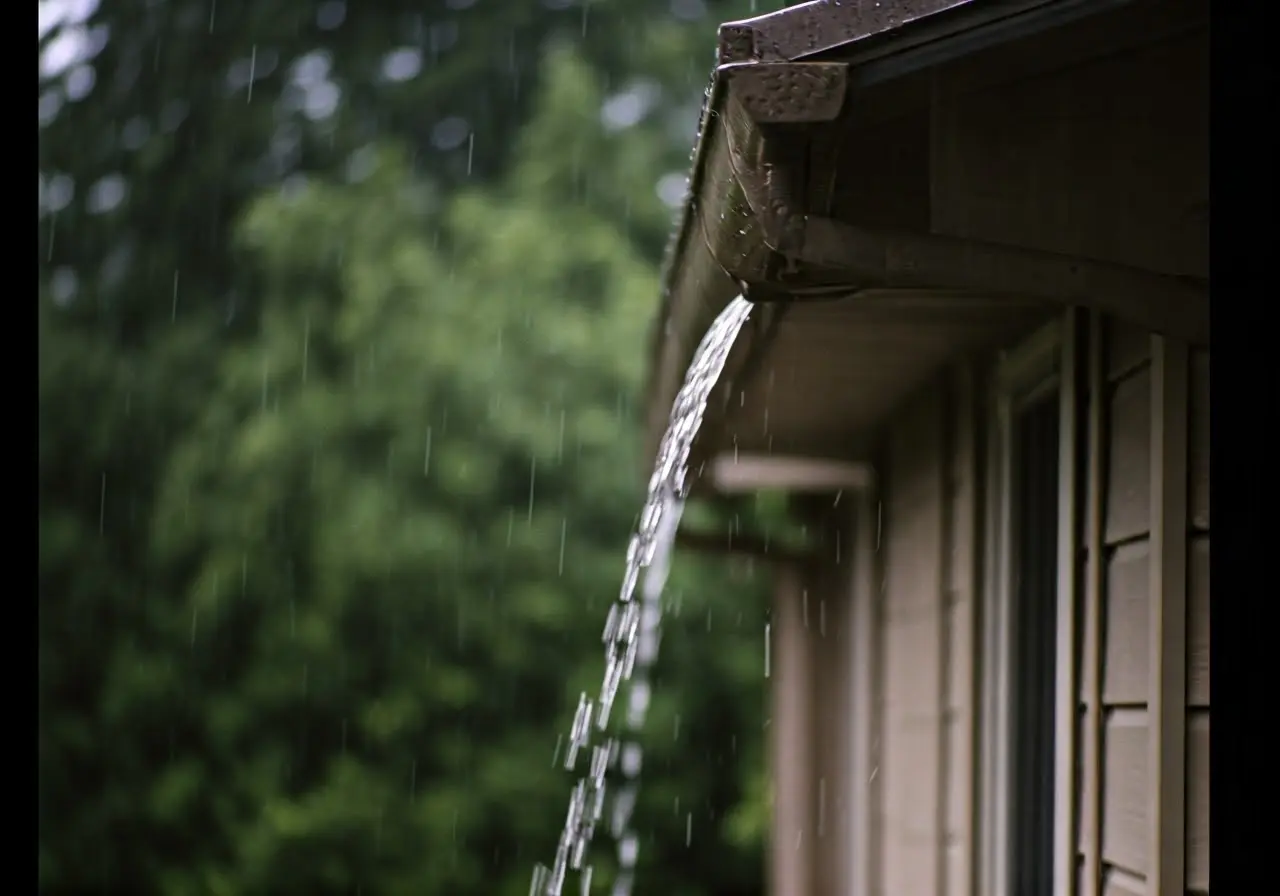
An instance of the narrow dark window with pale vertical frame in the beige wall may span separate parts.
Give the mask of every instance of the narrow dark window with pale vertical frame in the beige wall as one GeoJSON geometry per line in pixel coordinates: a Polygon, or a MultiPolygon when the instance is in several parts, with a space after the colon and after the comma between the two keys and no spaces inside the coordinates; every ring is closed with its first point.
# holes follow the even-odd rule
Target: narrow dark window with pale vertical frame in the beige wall
{"type": "Polygon", "coordinates": [[[1053,888],[1061,328],[1001,358],[989,460],[983,891],[1053,888]]]}

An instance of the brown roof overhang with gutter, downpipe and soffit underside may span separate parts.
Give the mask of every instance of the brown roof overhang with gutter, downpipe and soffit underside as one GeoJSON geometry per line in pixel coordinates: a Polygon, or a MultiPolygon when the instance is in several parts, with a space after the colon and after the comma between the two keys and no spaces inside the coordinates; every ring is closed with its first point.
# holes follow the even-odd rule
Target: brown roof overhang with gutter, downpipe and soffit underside
{"type": "MultiPolygon", "coordinates": [[[[663,271],[646,457],[699,340],[739,294],[758,307],[708,407],[694,468],[721,451],[849,457],[943,365],[1068,305],[1207,343],[1198,270],[936,233],[928,113],[923,128],[900,115],[928,110],[937,67],[950,60],[1059,31],[1070,35],[1064,46],[1103,45],[1185,27],[1198,9],[1189,0],[817,0],[722,26],[663,271]],[[1091,26],[1100,14],[1119,26],[1091,26]],[[847,150],[859,141],[872,163],[855,170],[847,150]]],[[[1016,59],[1034,68],[1029,55],[1016,59]]]]}

